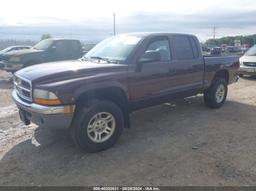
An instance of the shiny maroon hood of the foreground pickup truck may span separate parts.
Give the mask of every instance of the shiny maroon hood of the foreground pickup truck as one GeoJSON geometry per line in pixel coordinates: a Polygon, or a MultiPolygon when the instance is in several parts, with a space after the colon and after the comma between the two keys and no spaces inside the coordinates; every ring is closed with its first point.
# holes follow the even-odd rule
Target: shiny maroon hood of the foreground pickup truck
{"type": "Polygon", "coordinates": [[[50,83],[126,69],[127,65],[124,64],[72,60],[38,64],[19,70],[15,74],[32,82],[50,83]]]}

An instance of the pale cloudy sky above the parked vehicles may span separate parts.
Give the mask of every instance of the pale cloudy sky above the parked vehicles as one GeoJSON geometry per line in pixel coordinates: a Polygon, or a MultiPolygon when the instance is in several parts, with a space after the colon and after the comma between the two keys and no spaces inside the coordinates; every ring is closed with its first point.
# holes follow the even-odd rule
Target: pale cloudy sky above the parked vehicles
{"type": "Polygon", "coordinates": [[[0,38],[44,32],[101,40],[117,33],[182,32],[206,40],[256,33],[255,0],[7,0],[1,2],[0,38]]]}

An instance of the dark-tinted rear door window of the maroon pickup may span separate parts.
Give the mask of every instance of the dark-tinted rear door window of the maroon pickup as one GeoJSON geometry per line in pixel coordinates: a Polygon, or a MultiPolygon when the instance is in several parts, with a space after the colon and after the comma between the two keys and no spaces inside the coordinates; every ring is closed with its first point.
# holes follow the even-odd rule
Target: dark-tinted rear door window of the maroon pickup
{"type": "Polygon", "coordinates": [[[174,36],[172,39],[174,59],[189,60],[194,58],[192,46],[188,37],[174,36]]]}

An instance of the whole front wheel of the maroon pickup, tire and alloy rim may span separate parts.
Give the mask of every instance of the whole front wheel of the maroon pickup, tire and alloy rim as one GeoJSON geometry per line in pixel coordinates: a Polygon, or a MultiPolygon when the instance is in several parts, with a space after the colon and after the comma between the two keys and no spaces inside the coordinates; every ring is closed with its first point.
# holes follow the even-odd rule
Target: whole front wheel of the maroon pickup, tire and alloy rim
{"type": "Polygon", "coordinates": [[[95,100],[77,110],[71,134],[82,150],[93,153],[113,146],[123,126],[123,113],[116,104],[95,100]]]}

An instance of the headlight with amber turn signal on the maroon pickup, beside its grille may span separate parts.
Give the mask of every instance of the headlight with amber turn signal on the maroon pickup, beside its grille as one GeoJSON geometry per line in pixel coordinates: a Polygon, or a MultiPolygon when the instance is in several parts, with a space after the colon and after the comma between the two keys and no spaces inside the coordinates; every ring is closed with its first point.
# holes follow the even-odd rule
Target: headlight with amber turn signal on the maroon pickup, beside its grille
{"type": "Polygon", "coordinates": [[[50,91],[34,89],[33,90],[33,100],[35,103],[41,105],[60,105],[61,101],[58,97],[50,91]]]}

